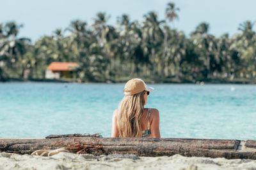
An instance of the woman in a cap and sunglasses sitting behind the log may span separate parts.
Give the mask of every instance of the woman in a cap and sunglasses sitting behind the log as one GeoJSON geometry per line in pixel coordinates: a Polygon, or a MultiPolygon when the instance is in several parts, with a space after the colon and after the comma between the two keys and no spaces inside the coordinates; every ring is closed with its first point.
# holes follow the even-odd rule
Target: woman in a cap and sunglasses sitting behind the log
{"type": "Polygon", "coordinates": [[[125,96],[113,113],[112,138],[160,138],[159,111],[144,108],[148,95],[153,91],[154,88],[148,87],[139,78],[127,81],[125,96]]]}

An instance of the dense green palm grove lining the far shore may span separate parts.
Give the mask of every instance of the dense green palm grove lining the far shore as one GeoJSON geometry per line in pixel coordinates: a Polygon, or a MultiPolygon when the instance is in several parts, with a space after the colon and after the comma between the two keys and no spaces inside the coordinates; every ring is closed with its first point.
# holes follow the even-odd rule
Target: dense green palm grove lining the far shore
{"type": "Polygon", "coordinates": [[[178,13],[179,8],[169,3],[164,20],[150,11],[142,22],[122,15],[115,25],[108,25],[106,13],[97,13],[92,25],[74,20],[64,31],[56,29],[35,43],[17,38],[22,25],[0,24],[0,80],[44,79],[53,61],[79,64],[72,81],[255,80],[252,22],[240,24],[232,37],[213,36],[209,24],[202,22],[186,37],[171,26],[178,13]]]}

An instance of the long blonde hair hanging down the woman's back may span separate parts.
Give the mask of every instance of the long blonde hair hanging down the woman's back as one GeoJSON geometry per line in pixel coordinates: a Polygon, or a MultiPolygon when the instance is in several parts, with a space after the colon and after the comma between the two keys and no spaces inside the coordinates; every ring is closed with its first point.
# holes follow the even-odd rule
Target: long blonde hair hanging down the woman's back
{"type": "Polygon", "coordinates": [[[118,107],[117,128],[119,137],[141,137],[140,120],[144,111],[144,91],[124,96],[118,107]]]}

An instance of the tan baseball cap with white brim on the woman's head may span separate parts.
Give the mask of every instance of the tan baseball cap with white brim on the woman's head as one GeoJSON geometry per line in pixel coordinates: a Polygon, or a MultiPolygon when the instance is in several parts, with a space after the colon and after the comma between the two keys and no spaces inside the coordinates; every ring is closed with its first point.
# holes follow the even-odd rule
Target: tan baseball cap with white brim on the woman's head
{"type": "Polygon", "coordinates": [[[146,83],[140,78],[132,78],[132,80],[127,81],[124,86],[125,95],[133,95],[143,92],[144,90],[148,92],[154,92],[153,87],[148,87],[146,83]]]}

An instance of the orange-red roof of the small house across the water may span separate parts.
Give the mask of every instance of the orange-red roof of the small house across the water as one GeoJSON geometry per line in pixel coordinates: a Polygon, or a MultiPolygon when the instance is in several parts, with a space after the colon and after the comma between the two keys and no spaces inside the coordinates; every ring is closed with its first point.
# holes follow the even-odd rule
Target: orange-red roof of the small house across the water
{"type": "Polygon", "coordinates": [[[52,62],[47,69],[51,71],[71,71],[76,67],[76,62],[52,62]]]}

